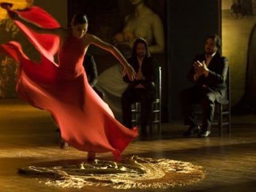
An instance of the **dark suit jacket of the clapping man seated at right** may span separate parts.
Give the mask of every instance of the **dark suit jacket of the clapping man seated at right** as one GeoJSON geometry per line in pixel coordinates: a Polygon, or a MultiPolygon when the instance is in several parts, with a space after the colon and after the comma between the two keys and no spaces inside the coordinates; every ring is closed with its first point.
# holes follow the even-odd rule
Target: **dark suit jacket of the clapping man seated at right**
{"type": "MultiPolygon", "coordinates": [[[[200,54],[195,56],[195,61],[206,61],[205,54],[200,54]]],[[[228,60],[226,57],[220,55],[219,52],[216,52],[215,56],[211,59],[210,64],[208,65],[209,75],[204,77],[203,75],[195,81],[195,86],[202,87],[207,85],[207,87],[216,93],[216,99],[218,102],[223,102],[226,99],[226,77],[228,73],[228,60]]],[[[194,81],[194,67],[192,66],[189,70],[187,78],[190,81],[194,81]]]]}

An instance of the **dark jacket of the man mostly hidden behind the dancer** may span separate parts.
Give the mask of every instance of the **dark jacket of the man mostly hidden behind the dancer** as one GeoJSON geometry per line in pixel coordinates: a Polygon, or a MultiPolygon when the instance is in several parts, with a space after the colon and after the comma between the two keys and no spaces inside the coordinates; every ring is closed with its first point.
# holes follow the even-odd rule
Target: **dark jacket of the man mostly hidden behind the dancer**
{"type": "Polygon", "coordinates": [[[85,68],[90,86],[95,86],[98,81],[98,71],[92,55],[85,54],[85,57],[83,58],[83,67],[85,68]]]}

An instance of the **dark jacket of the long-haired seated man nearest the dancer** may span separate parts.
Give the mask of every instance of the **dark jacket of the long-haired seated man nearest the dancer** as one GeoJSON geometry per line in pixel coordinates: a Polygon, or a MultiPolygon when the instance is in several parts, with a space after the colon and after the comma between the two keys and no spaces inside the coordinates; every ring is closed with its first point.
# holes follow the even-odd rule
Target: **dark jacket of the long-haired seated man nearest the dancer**
{"type": "MultiPolygon", "coordinates": [[[[129,59],[127,59],[127,62],[129,62],[129,64],[132,67],[134,67],[135,72],[138,73],[139,62],[138,62],[137,57],[130,57],[129,59]]],[[[154,90],[155,89],[154,81],[155,81],[155,77],[156,77],[155,71],[156,70],[155,70],[155,66],[153,64],[153,58],[145,57],[142,62],[142,73],[145,77],[145,80],[130,81],[128,75],[125,75],[123,79],[124,79],[124,81],[129,83],[129,85],[127,86],[127,90],[134,88],[138,84],[142,84],[145,88],[147,88],[149,90],[154,90]]]]}

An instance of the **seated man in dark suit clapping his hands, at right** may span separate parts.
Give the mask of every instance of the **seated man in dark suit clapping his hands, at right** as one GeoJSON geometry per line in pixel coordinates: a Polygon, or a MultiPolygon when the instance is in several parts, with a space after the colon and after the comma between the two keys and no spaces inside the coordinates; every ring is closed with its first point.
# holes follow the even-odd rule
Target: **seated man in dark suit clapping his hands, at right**
{"type": "Polygon", "coordinates": [[[184,136],[207,137],[215,110],[215,101],[223,102],[227,95],[226,76],[228,61],[221,56],[221,40],[217,35],[210,35],[205,41],[205,53],[197,55],[187,77],[195,85],[181,91],[182,114],[184,124],[190,125],[184,136]],[[202,129],[195,117],[195,104],[202,105],[202,129]]]}

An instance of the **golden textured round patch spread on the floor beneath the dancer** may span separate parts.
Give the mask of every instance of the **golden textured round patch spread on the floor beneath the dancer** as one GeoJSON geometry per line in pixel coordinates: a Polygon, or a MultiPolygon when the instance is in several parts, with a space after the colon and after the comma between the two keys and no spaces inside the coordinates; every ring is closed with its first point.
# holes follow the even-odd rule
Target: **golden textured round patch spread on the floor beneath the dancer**
{"type": "Polygon", "coordinates": [[[122,162],[101,161],[69,166],[26,167],[20,173],[47,177],[46,185],[64,188],[104,186],[116,189],[169,188],[204,177],[202,167],[171,159],[132,156],[122,162]]]}

